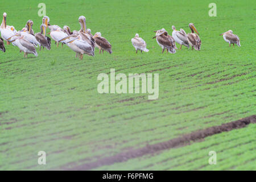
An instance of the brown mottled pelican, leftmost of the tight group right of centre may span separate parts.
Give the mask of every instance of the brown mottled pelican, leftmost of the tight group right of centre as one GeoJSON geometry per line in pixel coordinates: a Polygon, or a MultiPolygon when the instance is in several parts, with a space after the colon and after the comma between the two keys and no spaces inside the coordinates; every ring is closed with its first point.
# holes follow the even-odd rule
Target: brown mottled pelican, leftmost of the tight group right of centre
{"type": "Polygon", "coordinates": [[[156,34],[153,39],[156,38],[156,42],[160,47],[162,47],[162,53],[164,52],[164,49],[167,49],[167,53],[176,53],[176,45],[174,38],[168,35],[168,32],[164,28],[155,32],[156,34]]]}

